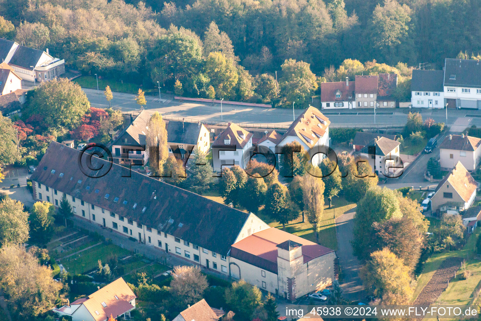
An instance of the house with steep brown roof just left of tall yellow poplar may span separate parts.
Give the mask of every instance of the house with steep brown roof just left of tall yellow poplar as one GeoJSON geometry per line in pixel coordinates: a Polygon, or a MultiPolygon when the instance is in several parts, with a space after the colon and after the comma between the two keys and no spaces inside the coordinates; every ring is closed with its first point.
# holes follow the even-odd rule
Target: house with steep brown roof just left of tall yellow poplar
{"type": "Polygon", "coordinates": [[[116,164],[145,165],[148,151],[145,151],[145,135],[149,131],[151,115],[143,110],[126,128],[114,136],[112,142],[112,156],[116,164]]]}

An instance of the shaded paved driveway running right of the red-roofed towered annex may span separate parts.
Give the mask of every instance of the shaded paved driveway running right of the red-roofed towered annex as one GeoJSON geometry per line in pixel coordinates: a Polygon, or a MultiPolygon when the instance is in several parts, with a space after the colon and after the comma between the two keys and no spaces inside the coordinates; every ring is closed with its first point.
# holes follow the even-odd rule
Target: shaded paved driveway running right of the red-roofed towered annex
{"type": "Polygon", "coordinates": [[[353,255],[353,228],[355,207],[345,214],[336,218],[337,229],[337,256],[339,257],[339,265],[341,267],[342,282],[341,287],[344,297],[349,300],[361,300],[366,296],[364,286],[359,278],[359,269],[362,264],[353,255]]]}

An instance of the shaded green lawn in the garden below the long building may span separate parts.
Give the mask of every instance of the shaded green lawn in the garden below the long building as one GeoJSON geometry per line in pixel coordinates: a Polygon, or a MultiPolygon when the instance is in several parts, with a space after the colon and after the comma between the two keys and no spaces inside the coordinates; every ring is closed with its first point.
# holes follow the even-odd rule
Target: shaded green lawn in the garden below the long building
{"type": "Polygon", "coordinates": [[[110,257],[122,257],[127,255],[127,253],[129,253],[129,251],[117,245],[102,244],[89,251],[81,252],[78,256],[61,260],[60,263],[72,274],[84,274],[95,269],[98,266],[97,261],[99,259],[102,261],[102,264],[105,264],[110,257]]]}

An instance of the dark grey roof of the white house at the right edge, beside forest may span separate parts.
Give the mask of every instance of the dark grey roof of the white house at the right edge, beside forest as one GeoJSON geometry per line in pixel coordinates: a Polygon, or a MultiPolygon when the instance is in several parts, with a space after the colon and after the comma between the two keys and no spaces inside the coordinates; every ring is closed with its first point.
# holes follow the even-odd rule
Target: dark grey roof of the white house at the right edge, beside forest
{"type": "Polygon", "coordinates": [[[481,88],[480,62],[478,60],[446,58],[444,86],[481,88]]]}

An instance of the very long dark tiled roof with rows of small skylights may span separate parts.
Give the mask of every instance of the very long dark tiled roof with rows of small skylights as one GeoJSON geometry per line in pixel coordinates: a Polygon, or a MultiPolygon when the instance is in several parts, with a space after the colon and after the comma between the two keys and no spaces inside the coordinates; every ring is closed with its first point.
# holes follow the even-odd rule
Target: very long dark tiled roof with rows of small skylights
{"type": "MultiPolygon", "coordinates": [[[[80,153],[52,141],[31,179],[222,255],[228,254],[230,245],[235,242],[249,216],[116,164],[112,164],[105,176],[89,178],[79,168],[77,158],[80,153]],[[55,169],[53,174],[52,169],[55,169]],[[62,178],[60,173],[64,173],[62,178]],[[129,173],[131,177],[122,177],[129,173]],[[97,189],[99,193],[95,193],[97,189]],[[109,199],[105,198],[107,193],[110,194],[109,199]],[[119,197],[118,202],[114,202],[115,197],[119,197]],[[124,201],[127,201],[126,205],[124,201]],[[169,222],[170,219],[173,222],[169,222]],[[179,223],[183,225],[179,226],[179,223]]],[[[83,164],[85,158],[84,154],[83,164]]],[[[94,168],[108,164],[103,159],[92,157],[94,168]]],[[[87,166],[84,167],[87,170],[87,166]]],[[[96,174],[95,171],[90,172],[90,176],[96,174]]]]}

